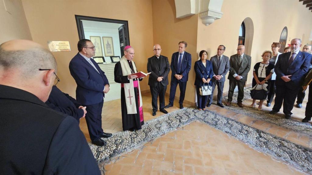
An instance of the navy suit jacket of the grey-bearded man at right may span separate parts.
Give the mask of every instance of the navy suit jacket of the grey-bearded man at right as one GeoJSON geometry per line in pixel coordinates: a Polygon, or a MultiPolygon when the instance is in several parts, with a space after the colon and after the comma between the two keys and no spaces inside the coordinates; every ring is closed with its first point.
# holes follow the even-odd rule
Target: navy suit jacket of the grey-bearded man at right
{"type": "Polygon", "coordinates": [[[280,56],[278,57],[278,60],[274,67],[274,71],[276,73],[275,84],[281,86],[285,85],[290,89],[296,89],[299,88],[300,85],[303,83],[303,80],[305,78],[304,75],[309,70],[311,54],[299,51],[295,60],[288,67],[290,54],[291,52],[287,52],[284,54],[280,54],[280,56]],[[291,75],[289,77],[291,81],[284,82],[284,80],[281,79],[281,77],[284,75],[291,75]]]}

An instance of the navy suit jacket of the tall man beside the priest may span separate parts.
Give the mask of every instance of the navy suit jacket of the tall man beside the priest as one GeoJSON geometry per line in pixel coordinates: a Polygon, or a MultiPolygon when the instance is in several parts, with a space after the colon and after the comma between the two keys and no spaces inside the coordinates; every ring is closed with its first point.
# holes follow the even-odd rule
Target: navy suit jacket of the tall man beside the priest
{"type": "MultiPolygon", "coordinates": [[[[180,56],[179,52],[175,52],[172,54],[172,57],[171,57],[171,63],[170,63],[170,68],[172,71],[171,81],[176,80],[174,75],[177,74],[179,56],[180,56]]],[[[180,72],[183,75],[183,77],[180,79],[181,82],[188,81],[188,73],[191,70],[191,64],[192,64],[192,55],[184,51],[183,59],[181,62],[181,72],[180,72]]]]}

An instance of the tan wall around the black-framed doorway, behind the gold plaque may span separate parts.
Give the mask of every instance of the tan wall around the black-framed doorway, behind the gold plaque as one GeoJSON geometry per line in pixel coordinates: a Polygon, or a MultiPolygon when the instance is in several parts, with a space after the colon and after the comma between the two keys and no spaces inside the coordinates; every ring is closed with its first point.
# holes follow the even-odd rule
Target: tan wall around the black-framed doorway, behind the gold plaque
{"type": "MultiPolygon", "coordinates": [[[[53,52],[58,64],[58,87],[75,97],[76,83],[68,65],[77,54],[79,40],[75,15],[127,20],[130,45],[139,71],[146,72],[147,58],[153,45],[152,2],[146,0],[22,0],[33,40],[47,47],[48,40],[69,41],[70,52],[53,52]],[[124,11],[119,10],[120,7],[124,11]]],[[[149,89],[147,78],[141,89],[149,89]]]]}

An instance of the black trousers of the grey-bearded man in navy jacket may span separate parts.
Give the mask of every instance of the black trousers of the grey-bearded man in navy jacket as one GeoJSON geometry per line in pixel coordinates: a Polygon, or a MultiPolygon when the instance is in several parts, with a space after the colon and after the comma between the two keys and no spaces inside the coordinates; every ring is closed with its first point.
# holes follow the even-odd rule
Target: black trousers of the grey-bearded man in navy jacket
{"type": "MultiPolygon", "coordinates": [[[[283,80],[280,80],[283,81],[283,80]]],[[[284,114],[291,115],[291,110],[294,107],[295,100],[299,91],[299,87],[296,89],[290,89],[284,85],[276,85],[275,100],[274,100],[274,111],[280,111],[283,104],[284,114]]]]}

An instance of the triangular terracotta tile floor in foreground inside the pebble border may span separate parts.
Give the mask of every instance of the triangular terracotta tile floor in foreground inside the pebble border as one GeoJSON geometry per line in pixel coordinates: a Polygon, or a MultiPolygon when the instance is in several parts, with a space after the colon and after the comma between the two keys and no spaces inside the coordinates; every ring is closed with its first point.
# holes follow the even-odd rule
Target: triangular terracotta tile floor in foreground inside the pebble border
{"type": "Polygon", "coordinates": [[[201,122],[123,154],[105,169],[105,175],[303,174],[201,122]]]}

